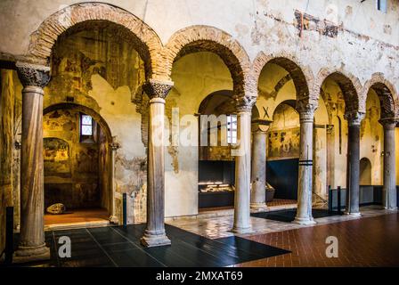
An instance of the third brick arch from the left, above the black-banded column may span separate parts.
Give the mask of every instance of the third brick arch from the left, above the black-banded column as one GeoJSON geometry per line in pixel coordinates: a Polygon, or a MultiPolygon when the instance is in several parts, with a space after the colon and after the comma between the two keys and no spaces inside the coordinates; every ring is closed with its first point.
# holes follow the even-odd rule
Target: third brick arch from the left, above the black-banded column
{"type": "Polygon", "coordinates": [[[312,93],[312,90],[309,88],[314,82],[312,70],[299,63],[295,57],[288,53],[265,54],[261,52],[256,56],[252,64],[254,77],[256,78],[256,89],[260,74],[267,63],[277,64],[287,70],[289,77],[294,81],[297,100],[317,103],[319,94],[312,93]]]}

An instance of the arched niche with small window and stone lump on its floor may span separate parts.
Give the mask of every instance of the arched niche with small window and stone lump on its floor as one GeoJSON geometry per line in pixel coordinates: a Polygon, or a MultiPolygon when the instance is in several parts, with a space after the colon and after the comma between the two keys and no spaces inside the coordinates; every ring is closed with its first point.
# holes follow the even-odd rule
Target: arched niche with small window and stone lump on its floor
{"type": "Polygon", "coordinates": [[[45,225],[108,224],[112,214],[110,128],[94,110],[60,103],[44,110],[45,225]],[[64,211],[53,205],[61,203],[64,211]]]}

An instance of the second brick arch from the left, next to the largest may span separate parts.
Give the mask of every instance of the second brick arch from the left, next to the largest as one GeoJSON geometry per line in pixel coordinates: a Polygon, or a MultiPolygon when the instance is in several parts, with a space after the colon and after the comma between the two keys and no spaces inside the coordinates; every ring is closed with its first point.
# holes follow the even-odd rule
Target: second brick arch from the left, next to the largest
{"type": "Polygon", "coordinates": [[[219,28],[191,26],[175,32],[164,50],[163,74],[170,78],[173,63],[189,53],[216,53],[230,70],[234,95],[256,97],[251,77],[251,65],[244,48],[233,37],[219,28]]]}

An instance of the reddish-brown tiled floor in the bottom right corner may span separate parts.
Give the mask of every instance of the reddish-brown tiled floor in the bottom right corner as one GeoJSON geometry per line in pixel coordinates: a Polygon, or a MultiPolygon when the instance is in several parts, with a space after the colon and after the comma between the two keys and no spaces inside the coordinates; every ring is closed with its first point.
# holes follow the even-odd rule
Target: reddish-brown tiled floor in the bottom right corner
{"type": "Polygon", "coordinates": [[[399,266],[399,213],[246,237],[292,251],[237,266],[399,266]],[[338,238],[338,258],[325,254],[338,238]]]}

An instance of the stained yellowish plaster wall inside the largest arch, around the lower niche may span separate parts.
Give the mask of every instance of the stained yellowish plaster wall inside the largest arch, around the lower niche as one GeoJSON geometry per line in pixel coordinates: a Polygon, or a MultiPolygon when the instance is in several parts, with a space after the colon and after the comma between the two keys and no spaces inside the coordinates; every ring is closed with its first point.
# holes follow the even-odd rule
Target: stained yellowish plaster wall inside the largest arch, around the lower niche
{"type": "MultiPolygon", "coordinates": [[[[100,152],[107,153],[102,157],[110,158],[110,143],[114,140],[121,146],[115,151],[115,194],[100,195],[100,207],[106,208],[107,215],[119,223],[122,222],[123,193],[127,194],[127,222],[146,220],[148,98],[139,86],[153,76],[152,57],[148,45],[132,30],[112,20],[77,22],[57,37],[50,57],[52,80],[45,89],[45,107],[60,103],[85,106],[88,109],[81,112],[92,116],[103,133],[108,133],[106,142],[98,146],[100,152]],[[94,117],[89,110],[100,117],[94,117]]],[[[108,167],[104,172],[111,175],[108,161],[110,159],[107,164],[101,164],[99,170],[108,167]]],[[[111,188],[108,181],[107,187],[111,188]]],[[[101,183],[106,182],[100,180],[99,185],[101,183]]]]}

